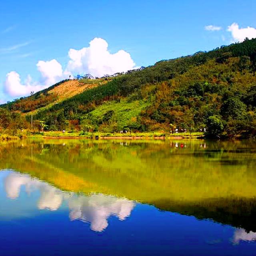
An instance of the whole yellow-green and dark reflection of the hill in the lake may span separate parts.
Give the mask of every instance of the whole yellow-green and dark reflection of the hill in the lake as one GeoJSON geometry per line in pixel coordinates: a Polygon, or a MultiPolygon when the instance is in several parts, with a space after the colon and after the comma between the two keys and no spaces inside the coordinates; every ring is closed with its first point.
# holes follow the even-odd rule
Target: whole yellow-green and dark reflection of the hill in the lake
{"type": "Polygon", "coordinates": [[[256,231],[251,142],[44,141],[0,144],[0,168],[256,231]]]}

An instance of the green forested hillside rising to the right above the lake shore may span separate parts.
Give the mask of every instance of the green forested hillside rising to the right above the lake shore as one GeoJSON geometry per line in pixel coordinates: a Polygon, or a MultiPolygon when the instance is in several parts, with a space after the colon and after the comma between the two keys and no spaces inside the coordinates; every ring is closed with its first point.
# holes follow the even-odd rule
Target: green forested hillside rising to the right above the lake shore
{"type": "MultiPolygon", "coordinates": [[[[112,133],[206,128],[208,136],[254,137],[255,74],[256,39],[245,40],[120,74],[62,98],[58,104],[51,99],[34,114],[34,122],[35,126],[44,122],[48,130],[87,127],[112,133]]],[[[15,119],[19,110],[28,112],[26,118],[30,120],[32,109],[14,106],[2,106],[2,115],[15,119]]],[[[2,130],[15,129],[11,121],[1,122],[2,130]]],[[[22,125],[29,128],[24,119],[22,125]]]]}

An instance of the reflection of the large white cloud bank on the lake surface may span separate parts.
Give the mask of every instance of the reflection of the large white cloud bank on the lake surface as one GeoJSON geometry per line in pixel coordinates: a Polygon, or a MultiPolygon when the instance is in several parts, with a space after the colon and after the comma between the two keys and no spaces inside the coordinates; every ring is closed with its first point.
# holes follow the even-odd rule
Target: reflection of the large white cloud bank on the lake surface
{"type": "Polygon", "coordinates": [[[116,216],[119,220],[125,220],[130,216],[135,206],[133,201],[103,194],[91,196],[76,195],[62,192],[53,186],[41,182],[29,175],[12,172],[5,180],[6,194],[11,199],[19,197],[21,186],[25,186],[30,194],[34,190],[40,191],[38,209],[58,210],[63,201],[68,202],[70,220],[81,220],[91,223],[94,231],[103,231],[108,226],[108,218],[116,216]]]}

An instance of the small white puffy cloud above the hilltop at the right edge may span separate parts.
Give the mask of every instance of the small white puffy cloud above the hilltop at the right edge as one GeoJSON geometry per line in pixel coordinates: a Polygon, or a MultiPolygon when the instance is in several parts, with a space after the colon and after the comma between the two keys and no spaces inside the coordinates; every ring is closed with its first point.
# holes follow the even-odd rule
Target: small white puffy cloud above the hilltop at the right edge
{"type": "Polygon", "coordinates": [[[249,39],[256,38],[256,28],[249,26],[247,28],[239,28],[237,23],[233,23],[228,26],[228,31],[231,32],[235,42],[242,42],[246,37],[249,39]]]}

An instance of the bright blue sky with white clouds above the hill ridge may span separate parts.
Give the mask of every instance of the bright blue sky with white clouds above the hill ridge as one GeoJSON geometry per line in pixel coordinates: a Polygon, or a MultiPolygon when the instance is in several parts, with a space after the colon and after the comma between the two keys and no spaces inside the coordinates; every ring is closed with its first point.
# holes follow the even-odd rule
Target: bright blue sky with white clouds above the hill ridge
{"type": "Polygon", "coordinates": [[[255,11],[254,0],[1,1],[0,101],[69,74],[125,71],[256,37],[255,11]],[[88,48],[94,38],[108,48],[104,40],[88,48]]]}

